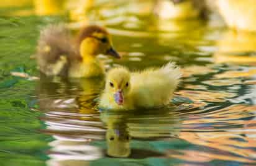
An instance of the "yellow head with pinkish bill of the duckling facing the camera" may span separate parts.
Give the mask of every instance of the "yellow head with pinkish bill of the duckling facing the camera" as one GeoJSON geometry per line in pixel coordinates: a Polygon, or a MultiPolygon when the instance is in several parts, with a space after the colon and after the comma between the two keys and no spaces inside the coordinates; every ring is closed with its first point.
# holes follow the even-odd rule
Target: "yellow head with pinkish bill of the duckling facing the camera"
{"type": "Polygon", "coordinates": [[[124,105],[130,90],[130,72],[126,68],[114,68],[107,74],[106,92],[111,93],[118,105],[124,105]]]}

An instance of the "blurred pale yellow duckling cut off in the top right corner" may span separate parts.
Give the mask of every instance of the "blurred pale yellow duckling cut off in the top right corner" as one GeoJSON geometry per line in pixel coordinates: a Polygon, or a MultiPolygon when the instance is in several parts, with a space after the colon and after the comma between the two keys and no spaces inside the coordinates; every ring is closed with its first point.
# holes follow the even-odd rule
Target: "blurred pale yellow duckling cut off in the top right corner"
{"type": "Polygon", "coordinates": [[[217,0],[216,6],[229,27],[256,31],[255,0],[217,0]]]}

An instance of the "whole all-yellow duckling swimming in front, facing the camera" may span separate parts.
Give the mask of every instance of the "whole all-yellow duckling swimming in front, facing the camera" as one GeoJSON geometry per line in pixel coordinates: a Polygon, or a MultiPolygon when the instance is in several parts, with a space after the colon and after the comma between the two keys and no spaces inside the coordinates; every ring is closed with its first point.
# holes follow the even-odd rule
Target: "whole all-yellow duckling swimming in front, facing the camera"
{"type": "Polygon", "coordinates": [[[173,63],[159,69],[132,73],[123,67],[111,69],[99,108],[134,110],[166,105],[173,97],[180,77],[180,68],[173,63]]]}

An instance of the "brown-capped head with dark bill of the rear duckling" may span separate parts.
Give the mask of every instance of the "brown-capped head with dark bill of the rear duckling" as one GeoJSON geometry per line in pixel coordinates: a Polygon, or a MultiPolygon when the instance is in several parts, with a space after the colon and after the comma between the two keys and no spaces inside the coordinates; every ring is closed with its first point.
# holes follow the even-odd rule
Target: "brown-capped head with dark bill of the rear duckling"
{"type": "Polygon", "coordinates": [[[103,54],[120,58],[112,46],[111,36],[105,28],[98,25],[89,25],[83,28],[78,35],[78,44],[82,57],[103,54]]]}

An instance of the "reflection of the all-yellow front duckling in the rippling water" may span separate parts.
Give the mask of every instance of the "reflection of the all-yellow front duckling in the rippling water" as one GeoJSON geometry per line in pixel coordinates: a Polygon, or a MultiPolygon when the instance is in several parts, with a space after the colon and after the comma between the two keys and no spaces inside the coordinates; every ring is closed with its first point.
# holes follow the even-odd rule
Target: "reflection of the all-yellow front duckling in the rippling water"
{"type": "Polygon", "coordinates": [[[180,133],[182,124],[180,118],[173,113],[175,109],[176,107],[166,107],[140,112],[101,111],[101,121],[106,125],[107,155],[135,159],[162,156],[163,154],[153,149],[140,149],[130,142],[132,138],[137,141],[173,139],[180,133]]]}

